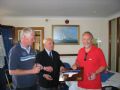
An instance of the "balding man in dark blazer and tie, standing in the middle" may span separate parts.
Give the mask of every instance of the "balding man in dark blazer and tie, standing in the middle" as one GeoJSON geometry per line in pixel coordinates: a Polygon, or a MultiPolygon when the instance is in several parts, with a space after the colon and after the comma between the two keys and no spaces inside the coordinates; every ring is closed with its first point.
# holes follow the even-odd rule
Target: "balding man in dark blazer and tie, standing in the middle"
{"type": "Polygon", "coordinates": [[[53,50],[54,42],[51,38],[43,41],[44,50],[37,54],[36,62],[45,66],[39,75],[40,90],[58,90],[59,73],[64,71],[60,55],[53,50]]]}

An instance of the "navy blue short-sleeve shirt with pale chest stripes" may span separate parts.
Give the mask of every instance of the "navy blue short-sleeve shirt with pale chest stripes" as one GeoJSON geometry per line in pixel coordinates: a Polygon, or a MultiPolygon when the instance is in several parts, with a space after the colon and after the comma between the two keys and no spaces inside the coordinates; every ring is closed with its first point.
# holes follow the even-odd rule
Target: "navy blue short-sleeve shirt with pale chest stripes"
{"type": "MultiPolygon", "coordinates": [[[[20,44],[15,45],[9,52],[9,70],[30,70],[35,63],[35,52],[32,48],[29,52],[20,44]]],[[[36,84],[36,75],[12,75],[15,88],[31,87],[36,84]]]]}

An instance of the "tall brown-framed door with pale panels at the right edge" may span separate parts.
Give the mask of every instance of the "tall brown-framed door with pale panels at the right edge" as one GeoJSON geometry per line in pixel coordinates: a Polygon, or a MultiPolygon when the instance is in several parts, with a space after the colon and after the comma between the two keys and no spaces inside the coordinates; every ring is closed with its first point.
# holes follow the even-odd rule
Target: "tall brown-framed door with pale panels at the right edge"
{"type": "Polygon", "coordinates": [[[120,18],[109,21],[109,68],[120,72],[120,18]]]}

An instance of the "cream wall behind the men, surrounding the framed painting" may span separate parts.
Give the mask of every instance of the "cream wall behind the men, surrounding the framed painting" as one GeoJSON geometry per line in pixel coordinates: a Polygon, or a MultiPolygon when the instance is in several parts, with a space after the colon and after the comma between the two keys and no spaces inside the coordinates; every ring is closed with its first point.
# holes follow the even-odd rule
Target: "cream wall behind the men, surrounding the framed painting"
{"type": "MultiPolygon", "coordinates": [[[[48,22],[42,17],[3,17],[1,24],[13,25],[16,27],[45,27],[45,38],[52,37],[52,25],[63,25],[65,19],[70,20],[70,25],[80,25],[80,40],[81,35],[85,31],[93,33],[95,38],[102,41],[101,48],[108,61],[108,21],[105,18],[64,18],[64,17],[49,17],[48,22]]],[[[76,54],[80,45],[55,45],[55,50],[60,54],[76,54]]],[[[76,57],[62,57],[63,60],[73,63],[76,57]]]]}

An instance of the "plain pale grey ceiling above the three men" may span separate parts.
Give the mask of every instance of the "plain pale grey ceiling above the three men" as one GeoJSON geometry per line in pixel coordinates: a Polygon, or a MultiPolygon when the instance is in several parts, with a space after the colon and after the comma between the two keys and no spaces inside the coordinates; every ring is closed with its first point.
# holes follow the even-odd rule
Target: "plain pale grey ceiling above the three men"
{"type": "Polygon", "coordinates": [[[108,17],[120,0],[0,0],[0,16],[108,17]]]}

